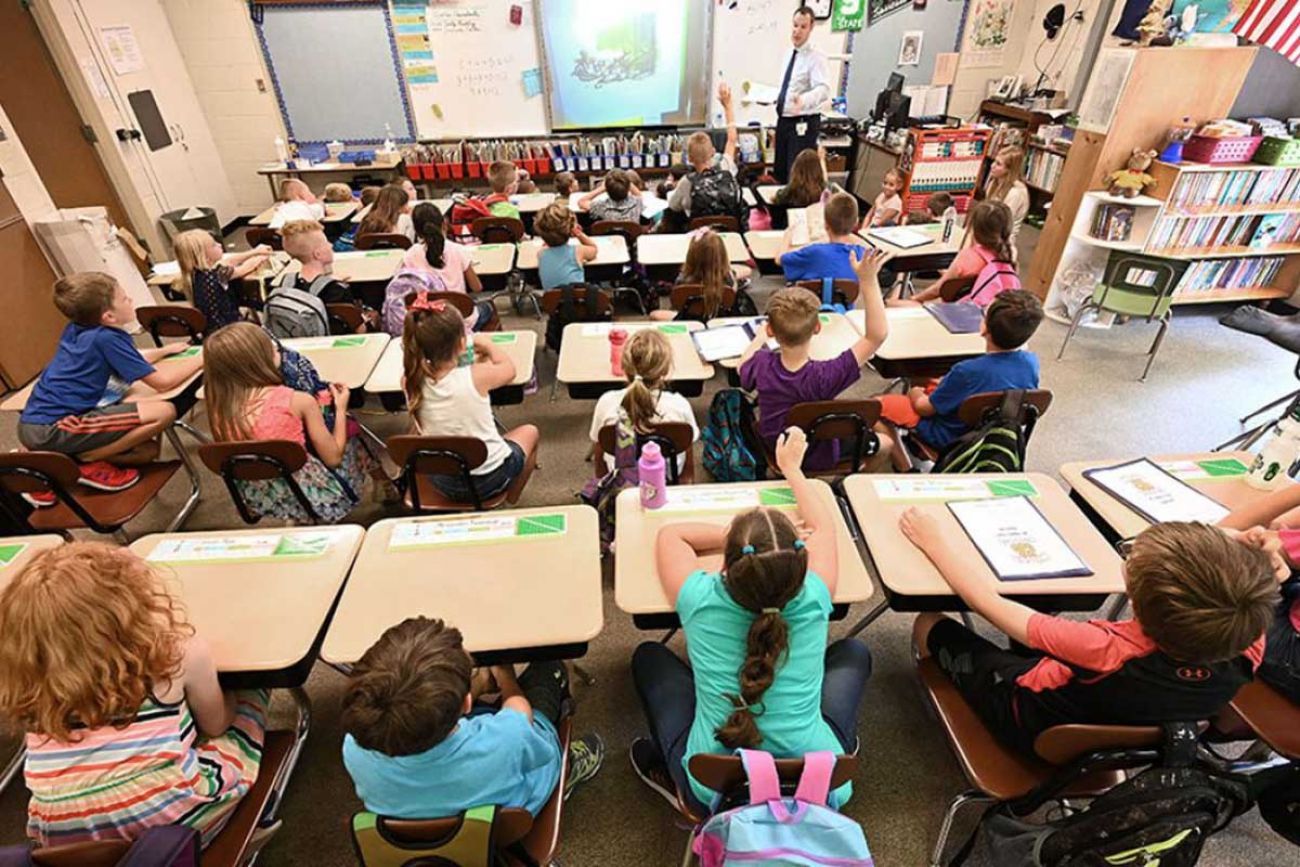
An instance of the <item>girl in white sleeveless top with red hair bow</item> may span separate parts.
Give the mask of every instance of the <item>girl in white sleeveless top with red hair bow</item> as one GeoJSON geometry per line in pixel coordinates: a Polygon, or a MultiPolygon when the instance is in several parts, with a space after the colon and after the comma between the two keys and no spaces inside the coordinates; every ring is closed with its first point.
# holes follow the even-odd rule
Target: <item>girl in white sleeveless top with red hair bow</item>
{"type": "MultiPolygon", "coordinates": [[[[474,490],[481,499],[504,491],[526,473],[537,451],[537,426],[520,425],[503,437],[497,429],[489,395],[515,380],[515,363],[485,334],[473,335],[474,360],[465,355],[465,320],[455,307],[429,300],[422,292],[407,299],[402,331],[403,387],[416,432],[425,437],[473,437],[488,447],[488,459],[474,467],[474,490]]],[[[446,497],[472,498],[460,476],[430,476],[446,497]]]]}

